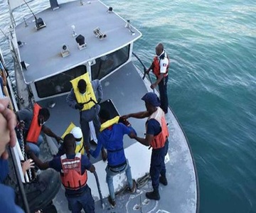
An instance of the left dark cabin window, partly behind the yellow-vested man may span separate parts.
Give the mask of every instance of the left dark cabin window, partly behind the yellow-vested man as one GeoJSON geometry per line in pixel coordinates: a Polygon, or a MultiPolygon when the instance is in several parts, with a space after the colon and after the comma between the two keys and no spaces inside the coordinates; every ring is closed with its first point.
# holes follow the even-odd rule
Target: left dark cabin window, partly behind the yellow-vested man
{"type": "Polygon", "coordinates": [[[35,82],[38,97],[44,98],[55,94],[69,92],[72,88],[70,80],[85,74],[85,72],[87,72],[86,66],[80,65],[65,72],[61,72],[58,75],[35,82]]]}

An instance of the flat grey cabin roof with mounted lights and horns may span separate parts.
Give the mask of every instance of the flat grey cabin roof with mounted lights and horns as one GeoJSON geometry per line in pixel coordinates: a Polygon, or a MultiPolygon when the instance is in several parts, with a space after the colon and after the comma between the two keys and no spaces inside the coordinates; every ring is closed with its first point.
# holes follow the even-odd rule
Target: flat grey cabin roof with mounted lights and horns
{"type": "Polygon", "coordinates": [[[141,33],[132,27],[134,35],[125,28],[126,21],[116,13],[108,13],[108,7],[100,1],[87,1],[83,5],[80,1],[60,4],[60,9],[46,9],[36,14],[46,23],[45,28],[36,30],[35,18],[26,19],[28,24],[20,23],[16,26],[17,40],[26,43],[19,48],[21,61],[29,64],[23,69],[26,83],[56,75],[72,67],[111,53],[129,43],[134,42],[141,33]],[[90,2],[90,4],[89,4],[90,2]],[[75,33],[85,37],[87,48],[79,50],[78,43],[73,37],[75,33]],[[107,35],[100,40],[93,33],[99,27],[107,35]],[[68,45],[70,55],[63,58],[61,49],[68,45]]]}

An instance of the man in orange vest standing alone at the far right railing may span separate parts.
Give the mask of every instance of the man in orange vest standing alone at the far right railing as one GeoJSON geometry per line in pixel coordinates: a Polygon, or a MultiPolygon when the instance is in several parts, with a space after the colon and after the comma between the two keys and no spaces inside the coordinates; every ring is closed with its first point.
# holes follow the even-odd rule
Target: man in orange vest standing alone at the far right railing
{"type": "Polygon", "coordinates": [[[149,67],[146,70],[148,74],[152,70],[154,75],[156,75],[156,82],[151,84],[151,89],[154,89],[156,85],[159,85],[161,109],[164,110],[166,114],[168,112],[168,97],[167,97],[167,82],[168,82],[168,70],[169,70],[169,57],[164,50],[164,45],[159,43],[156,45],[156,56],[149,67]]]}

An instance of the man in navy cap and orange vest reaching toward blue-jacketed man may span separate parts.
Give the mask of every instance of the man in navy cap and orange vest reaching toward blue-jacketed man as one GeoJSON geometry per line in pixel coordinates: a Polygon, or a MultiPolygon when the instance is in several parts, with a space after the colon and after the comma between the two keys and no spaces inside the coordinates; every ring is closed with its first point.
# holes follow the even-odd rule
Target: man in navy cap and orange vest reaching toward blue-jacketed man
{"type": "Polygon", "coordinates": [[[128,119],[129,117],[134,117],[144,119],[148,117],[146,121],[146,137],[140,138],[133,135],[132,138],[142,143],[142,145],[152,148],[149,173],[153,192],[146,192],[146,197],[153,200],[160,200],[159,182],[163,185],[168,184],[164,157],[169,146],[169,131],[166,125],[166,119],[164,118],[164,111],[159,107],[159,97],[154,92],[148,92],[142,97],[142,100],[145,102],[146,111],[124,115],[122,118],[128,119]]]}

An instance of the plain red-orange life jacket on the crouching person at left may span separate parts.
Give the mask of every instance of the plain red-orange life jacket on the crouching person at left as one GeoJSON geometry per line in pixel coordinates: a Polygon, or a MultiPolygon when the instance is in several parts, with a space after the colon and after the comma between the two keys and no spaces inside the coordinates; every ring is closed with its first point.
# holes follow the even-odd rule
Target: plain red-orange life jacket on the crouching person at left
{"type": "Polygon", "coordinates": [[[26,141],[32,142],[32,143],[37,143],[38,137],[41,133],[42,126],[38,124],[38,114],[39,110],[42,107],[40,107],[37,103],[34,104],[33,107],[33,119],[31,121],[31,125],[29,126],[28,129],[28,134],[26,136],[26,141]]]}

